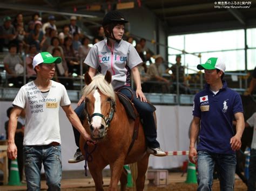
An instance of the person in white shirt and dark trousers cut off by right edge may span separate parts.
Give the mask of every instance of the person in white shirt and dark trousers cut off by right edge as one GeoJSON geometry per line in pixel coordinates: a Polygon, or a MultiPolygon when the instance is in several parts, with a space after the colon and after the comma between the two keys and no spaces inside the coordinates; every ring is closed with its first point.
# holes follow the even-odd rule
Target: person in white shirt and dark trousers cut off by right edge
{"type": "Polygon", "coordinates": [[[253,127],[253,138],[251,145],[251,157],[249,165],[248,191],[256,189],[256,112],[247,119],[245,127],[253,127]]]}

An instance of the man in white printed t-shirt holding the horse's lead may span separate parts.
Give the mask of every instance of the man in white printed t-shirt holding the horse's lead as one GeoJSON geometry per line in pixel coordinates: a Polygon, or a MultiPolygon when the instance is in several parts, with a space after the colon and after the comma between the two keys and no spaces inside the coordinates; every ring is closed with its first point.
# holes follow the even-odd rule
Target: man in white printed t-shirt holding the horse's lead
{"type": "Polygon", "coordinates": [[[62,178],[62,159],[60,151],[59,107],[65,111],[73,126],[85,140],[91,140],[71,108],[71,102],[65,87],[55,81],[55,64],[60,57],[53,57],[48,52],[41,52],[33,58],[32,66],[37,73],[36,80],[25,84],[15,97],[14,109],[8,125],[8,157],[17,158],[14,142],[17,118],[22,109],[26,112],[23,154],[28,190],[41,187],[41,168],[44,165],[46,184],[49,190],[60,190],[62,178]]]}

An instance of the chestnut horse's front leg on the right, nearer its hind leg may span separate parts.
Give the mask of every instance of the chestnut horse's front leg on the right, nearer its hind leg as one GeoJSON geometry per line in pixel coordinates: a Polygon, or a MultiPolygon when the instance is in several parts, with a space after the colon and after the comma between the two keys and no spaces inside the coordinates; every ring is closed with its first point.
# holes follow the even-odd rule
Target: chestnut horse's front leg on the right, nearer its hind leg
{"type": "Polygon", "coordinates": [[[120,180],[120,176],[123,172],[124,159],[125,157],[120,157],[110,164],[111,180],[109,190],[111,191],[117,190],[118,181],[120,180]]]}

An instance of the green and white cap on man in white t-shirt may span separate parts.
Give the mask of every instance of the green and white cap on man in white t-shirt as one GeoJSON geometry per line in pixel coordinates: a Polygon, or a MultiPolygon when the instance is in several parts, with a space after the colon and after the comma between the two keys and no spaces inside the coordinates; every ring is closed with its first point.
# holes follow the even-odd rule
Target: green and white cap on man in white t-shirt
{"type": "Polygon", "coordinates": [[[62,62],[62,58],[60,57],[53,57],[49,52],[41,52],[35,55],[33,58],[33,68],[41,63],[60,63],[62,62]]]}

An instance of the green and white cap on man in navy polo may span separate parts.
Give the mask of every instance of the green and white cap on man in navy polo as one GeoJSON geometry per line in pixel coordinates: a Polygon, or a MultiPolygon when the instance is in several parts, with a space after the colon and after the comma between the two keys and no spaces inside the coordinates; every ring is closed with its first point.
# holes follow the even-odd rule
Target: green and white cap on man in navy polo
{"type": "Polygon", "coordinates": [[[210,58],[204,64],[197,65],[197,69],[219,69],[225,73],[226,65],[220,58],[210,58]]]}

